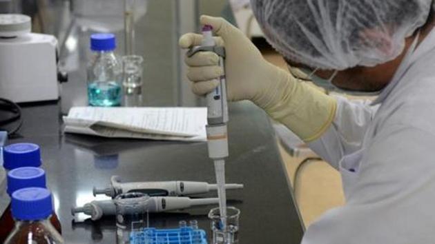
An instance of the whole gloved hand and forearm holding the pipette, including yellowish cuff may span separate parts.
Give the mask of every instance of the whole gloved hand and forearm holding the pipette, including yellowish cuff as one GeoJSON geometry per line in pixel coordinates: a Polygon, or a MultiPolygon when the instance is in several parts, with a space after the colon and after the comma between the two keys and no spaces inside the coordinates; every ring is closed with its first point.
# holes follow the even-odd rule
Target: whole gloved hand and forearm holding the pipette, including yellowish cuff
{"type": "MultiPolygon", "coordinates": [[[[202,16],[202,25],[213,26],[216,43],[226,50],[225,71],[230,101],[251,100],[273,119],[280,121],[304,141],[318,139],[335,116],[336,100],[298,81],[289,72],[266,61],[255,45],[237,28],[222,18],[202,16]]],[[[202,35],[184,34],[181,48],[201,45],[202,35]]],[[[195,94],[204,95],[218,86],[223,74],[219,57],[213,52],[198,52],[186,57],[187,77],[195,94]]]]}

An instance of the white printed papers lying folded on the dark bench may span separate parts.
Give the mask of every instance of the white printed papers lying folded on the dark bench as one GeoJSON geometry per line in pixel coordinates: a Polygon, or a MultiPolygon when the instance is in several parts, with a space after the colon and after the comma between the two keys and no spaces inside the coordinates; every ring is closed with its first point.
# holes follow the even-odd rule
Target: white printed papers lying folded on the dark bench
{"type": "Polygon", "coordinates": [[[67,133],[109,138],[206,141],[206,108],[71,108],[67,133]]]}

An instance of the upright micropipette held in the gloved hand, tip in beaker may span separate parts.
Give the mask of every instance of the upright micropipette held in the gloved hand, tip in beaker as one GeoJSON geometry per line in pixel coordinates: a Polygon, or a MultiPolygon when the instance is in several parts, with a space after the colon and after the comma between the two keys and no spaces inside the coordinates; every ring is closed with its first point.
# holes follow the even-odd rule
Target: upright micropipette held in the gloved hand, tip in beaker
{"type": "MultiPolygon", "coordinates": [[[[203,40],[200,46],[191,48],[187,56],[191,57],[197,52],[215,52],[220,57],[219,65],[224,70],[225,49],[216,45],[213,39],[213,27],[204,26],[202,28],[203,40]]],[[[225,74],[225,72],[224,72],[225,74]]],[[[226,192],[225,192],[225,161],[228,153],[228,137],[226,133],[226,123],[228,122],[228,105],[226,101],[226,80],[225,75],[219,78],[218,87],[206,95],[207,101],[207,145],[209,157],[215,163],[216,182],[218,183],[218,196],[220,216],[222,225],[226,226],[226,192]]]]}

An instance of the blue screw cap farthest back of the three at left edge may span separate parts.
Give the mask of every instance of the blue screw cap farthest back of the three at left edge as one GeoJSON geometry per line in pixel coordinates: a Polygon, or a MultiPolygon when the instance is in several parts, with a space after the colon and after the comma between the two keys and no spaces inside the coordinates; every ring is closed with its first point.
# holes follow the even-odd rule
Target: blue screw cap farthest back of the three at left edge
{"type": "Polygon", "coordinates": [[[39,145],[33,143],[15,143],[3,148],[3,167],[13,170],[17,167],[41,166],[39,145]]]}

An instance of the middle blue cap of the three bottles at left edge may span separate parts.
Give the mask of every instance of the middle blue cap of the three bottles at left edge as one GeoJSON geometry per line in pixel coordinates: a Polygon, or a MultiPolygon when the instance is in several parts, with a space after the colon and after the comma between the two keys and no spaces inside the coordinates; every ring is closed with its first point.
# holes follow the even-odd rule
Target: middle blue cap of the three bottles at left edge
{"type": "Polygon", "coordinates": [[[19,167],[8,172],[8,194],[26,187],[46,188],[46,172],[39,167],[19,167]]]}

